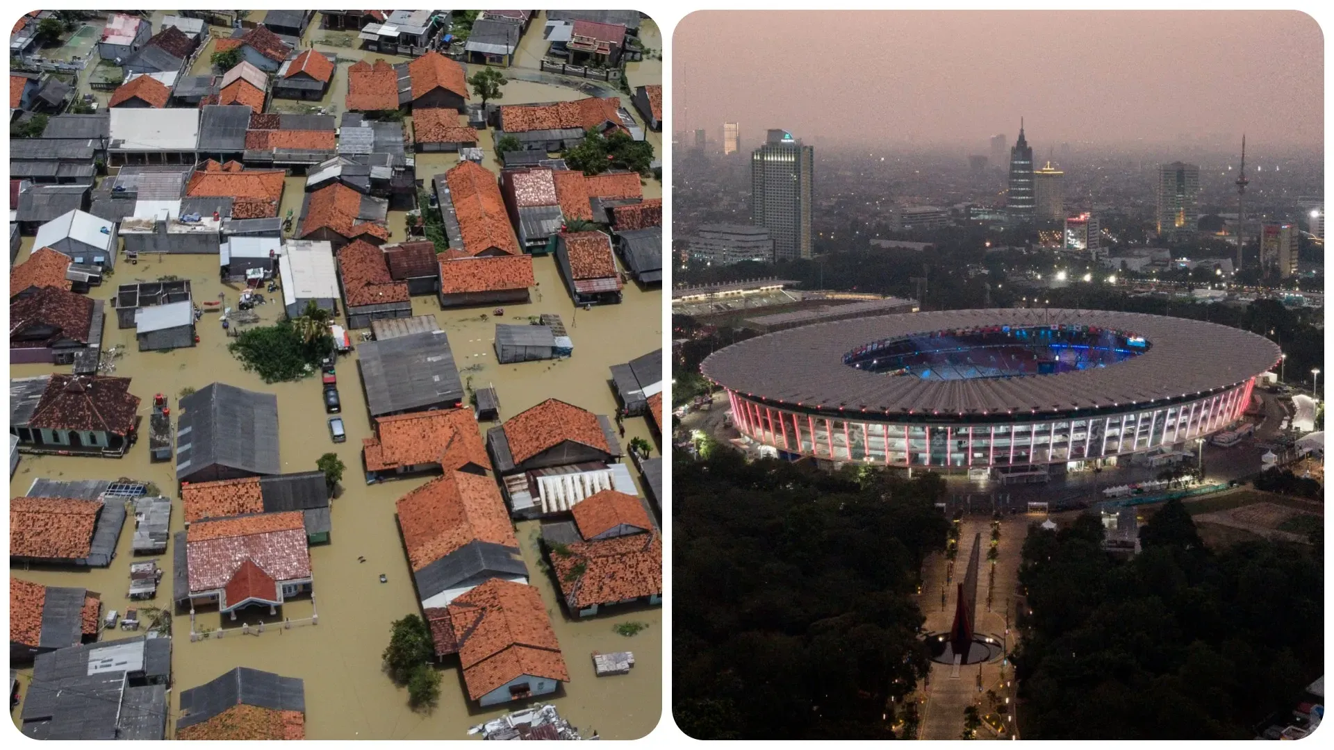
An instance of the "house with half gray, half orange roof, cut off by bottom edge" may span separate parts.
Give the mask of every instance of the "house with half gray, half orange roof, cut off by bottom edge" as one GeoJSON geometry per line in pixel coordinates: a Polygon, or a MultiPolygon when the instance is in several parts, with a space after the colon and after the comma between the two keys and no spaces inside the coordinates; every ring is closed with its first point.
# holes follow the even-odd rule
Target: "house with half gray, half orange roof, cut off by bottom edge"
{"type": "Polygon", "coordinates": [[[305,683],[236,667],[181,691],[176,739],[305,739],[305,683]]]}

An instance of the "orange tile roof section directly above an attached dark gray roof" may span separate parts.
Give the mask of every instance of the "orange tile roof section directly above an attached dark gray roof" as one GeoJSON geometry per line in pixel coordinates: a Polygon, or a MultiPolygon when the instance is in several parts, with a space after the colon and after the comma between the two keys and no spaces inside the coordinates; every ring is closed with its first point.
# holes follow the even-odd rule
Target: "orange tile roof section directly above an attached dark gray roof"
{"type": "Polygon", "coordinates": [[[500,490],[490,476],[447,471],[395,503],[412,570],[471,544],[519,547],[500,490]]]}

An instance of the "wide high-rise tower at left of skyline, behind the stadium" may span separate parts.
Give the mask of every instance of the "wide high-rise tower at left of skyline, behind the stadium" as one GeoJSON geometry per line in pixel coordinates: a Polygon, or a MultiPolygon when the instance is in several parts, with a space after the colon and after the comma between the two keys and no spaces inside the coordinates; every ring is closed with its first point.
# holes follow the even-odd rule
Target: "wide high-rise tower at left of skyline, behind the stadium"
{"type": "Polygon", "coordinates": [[[751,153],[751,218],[774,239],[774,259],[811,258],[815,148],[771,129],[751,153]]]}

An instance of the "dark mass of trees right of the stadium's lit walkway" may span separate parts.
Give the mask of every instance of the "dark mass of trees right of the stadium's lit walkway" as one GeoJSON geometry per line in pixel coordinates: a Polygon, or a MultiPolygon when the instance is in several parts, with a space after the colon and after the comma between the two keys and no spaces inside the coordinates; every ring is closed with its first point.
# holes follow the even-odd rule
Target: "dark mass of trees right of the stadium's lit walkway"
{"type": "Polygon", "coordinates": [[[1323,577],[1309,546],[1206,548],[1179,500],[1118,562],[1083,515],[1034,528],[1015,655],[1029,739],[1250,739],[1323,673],[1323,577]]]}

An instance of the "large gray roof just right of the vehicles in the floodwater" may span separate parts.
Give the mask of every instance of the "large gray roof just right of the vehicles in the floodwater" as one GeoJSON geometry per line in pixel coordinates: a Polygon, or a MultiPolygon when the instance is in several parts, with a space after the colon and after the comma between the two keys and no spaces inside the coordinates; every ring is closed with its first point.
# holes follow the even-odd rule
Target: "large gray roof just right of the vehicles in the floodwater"
{"type": "Polygon", "coordinates": [[[372,416],[463,398],[463,383],[443,331],[368,342],[358,351],[372,416]]]}

